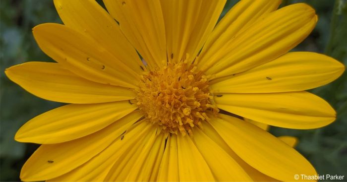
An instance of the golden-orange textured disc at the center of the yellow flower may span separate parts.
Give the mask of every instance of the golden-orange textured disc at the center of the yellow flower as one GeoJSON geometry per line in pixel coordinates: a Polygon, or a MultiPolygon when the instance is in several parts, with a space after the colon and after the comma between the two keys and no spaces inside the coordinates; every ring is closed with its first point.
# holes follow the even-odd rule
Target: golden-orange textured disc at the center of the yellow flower
{"type": "Polygon", "coordinates": [[[211,102],[207,76],[196,63],[168,62],[167,66],[144,72],[137,91],[137,105],[146,118],[158,124],[160,131],[183,135],[216,114],[211,102]]]}

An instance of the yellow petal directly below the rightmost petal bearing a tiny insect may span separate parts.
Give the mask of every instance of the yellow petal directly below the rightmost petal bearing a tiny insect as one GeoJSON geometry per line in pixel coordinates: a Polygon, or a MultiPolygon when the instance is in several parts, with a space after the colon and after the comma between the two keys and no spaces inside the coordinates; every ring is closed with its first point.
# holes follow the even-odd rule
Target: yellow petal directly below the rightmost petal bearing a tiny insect
{"type": "Polygon", "coordinates": [[[218,108],[273,126],[310,129],[336,118],[334,109],[320,97],[305,91],[269,94],[223,94],[214,97],[218,108]]]}

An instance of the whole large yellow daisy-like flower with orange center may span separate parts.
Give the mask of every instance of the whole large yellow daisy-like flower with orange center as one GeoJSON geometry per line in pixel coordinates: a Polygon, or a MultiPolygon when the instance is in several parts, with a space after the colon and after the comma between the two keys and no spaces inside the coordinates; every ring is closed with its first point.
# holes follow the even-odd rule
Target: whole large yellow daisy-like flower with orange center
{"type": "Polygon", "coordinates": [[[17,141],[42,144],[21,180],[316,175],[296,150],[244,121],[309,129],[335,120],[327,102],[304,90],[335,80],[344,65],[288,53],[317,22],[310,6],[241,0],[216,25],[225,0],[104,0],[109,13],[95,0],[54,2],[64,25],[41,24],[33,34],[58,63],[5,71],[38,97],[70,103],[16,133],[17,141]]]}

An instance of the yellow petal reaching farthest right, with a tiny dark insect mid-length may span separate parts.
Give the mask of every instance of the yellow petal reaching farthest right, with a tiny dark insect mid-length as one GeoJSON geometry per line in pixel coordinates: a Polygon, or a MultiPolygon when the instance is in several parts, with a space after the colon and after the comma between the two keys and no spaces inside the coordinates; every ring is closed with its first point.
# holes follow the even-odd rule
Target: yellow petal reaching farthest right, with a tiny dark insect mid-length
{"type": "Polygon", "coordinates": [[[213,80],[214,93],[302,91],[325,85],[345,70],[339,61],[309,52],[287,53],[242,73],[213,80]]]}

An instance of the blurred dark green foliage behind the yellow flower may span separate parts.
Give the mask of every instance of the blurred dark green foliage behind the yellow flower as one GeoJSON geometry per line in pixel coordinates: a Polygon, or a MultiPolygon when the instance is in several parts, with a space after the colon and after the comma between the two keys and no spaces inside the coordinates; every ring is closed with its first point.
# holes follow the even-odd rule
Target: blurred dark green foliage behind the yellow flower
{"type": "MultiPolygon", "coordinates": [[[[222,16],[237,0],[228,0],[222,16]]],[[[347,64],[347,0],[284,0],[281,6],[306,2],[319,21],[310,36],[293,51],[324,53],[347,64]]],[[[53,61],[37,46],[31,28],[45,22],[61,23],[51,0],[0,0],[0,181],[19,181],[19,172],[36,144],[13,140],[16,130],[31,118],[60,106],[33,96],[9,81],[4,69],[25,61],[53,61]]],[[[347,181],[347,76],[311,90],[337,111],[332,124],[311,130],[272,127],[276,135],[299,138],[297,150],[319,174],[345,175],[347,181]]],[[[300,104],[300,103],[297,103],[300,104]]],[[[286,155],[286,154],[284,154],[286,155]]]]}

